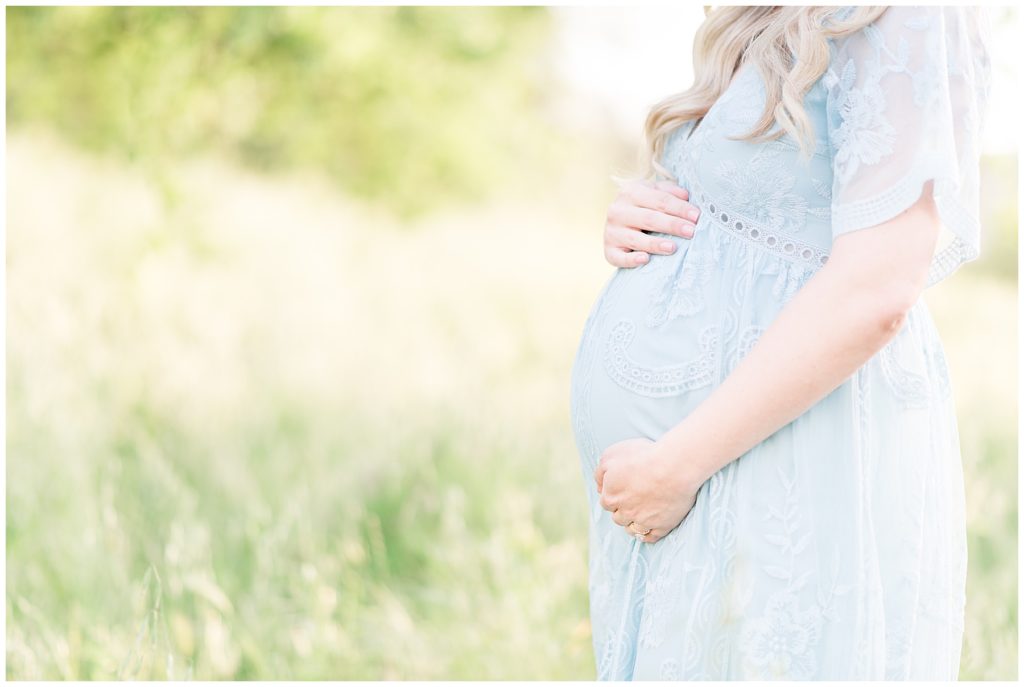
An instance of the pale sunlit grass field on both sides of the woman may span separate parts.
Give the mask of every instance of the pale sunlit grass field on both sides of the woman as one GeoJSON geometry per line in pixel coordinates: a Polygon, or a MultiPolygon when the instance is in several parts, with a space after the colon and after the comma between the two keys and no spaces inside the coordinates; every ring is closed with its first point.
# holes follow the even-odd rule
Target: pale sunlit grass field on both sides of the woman
{"type": "MultiPolygon", "coordinates": [[[[408,230],[316,177],[201,161],[168,194],[7,145],[9,679],[593,678],[568,421],[610,270],[593,199],[408,230]]],[[[1016,294],[965,268],[928,296],[964,679],[1017,678],[1016,294]]]]}

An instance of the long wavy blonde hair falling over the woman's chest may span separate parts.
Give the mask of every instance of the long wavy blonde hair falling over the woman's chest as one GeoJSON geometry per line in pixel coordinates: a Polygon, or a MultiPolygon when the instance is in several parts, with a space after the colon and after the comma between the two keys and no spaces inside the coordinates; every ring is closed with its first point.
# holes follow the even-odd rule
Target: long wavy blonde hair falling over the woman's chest
{"type": "Polygon", "coordinates": [[[693,85],[656,102],[644,123],[641,168],[646,178],[674,175],[659,159],[669,134],[699,120],[728,88],[744,61],[756,66],[765,84],[765,109],[754,128],[733,140],[766,142],[788,133],[810,157],[814,131],[804,111],[804,95],[828,67],[828,38],[859,31],[886,7],[856,7],[840,20],[844,7],[705,7],[705,22],[693,39],[693,85]],[[799,59],[794,60],[793,55],[799,59]],[[769,134],[775,123],[779,130],[769,134]]]}

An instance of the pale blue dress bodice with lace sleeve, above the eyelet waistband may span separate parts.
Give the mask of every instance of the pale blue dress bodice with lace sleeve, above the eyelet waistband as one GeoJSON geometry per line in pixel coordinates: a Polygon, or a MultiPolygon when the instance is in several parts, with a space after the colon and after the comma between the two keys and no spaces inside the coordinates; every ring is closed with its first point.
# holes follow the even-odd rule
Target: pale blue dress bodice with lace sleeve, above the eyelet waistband
{"type": "Polygon", "coordinates": [[[803,100],[810,159],[788,133],[736,140],[766,99],[759,69],[745,62],[699,123],[671,132],[663,165],[716,224],[815,268],[839,235],[893,219],[934,181],[946,231],[931,286],[980,254],[989,31],[987,14],[968,7],[890,7],[827,39],[827,68],[803,100]]]}

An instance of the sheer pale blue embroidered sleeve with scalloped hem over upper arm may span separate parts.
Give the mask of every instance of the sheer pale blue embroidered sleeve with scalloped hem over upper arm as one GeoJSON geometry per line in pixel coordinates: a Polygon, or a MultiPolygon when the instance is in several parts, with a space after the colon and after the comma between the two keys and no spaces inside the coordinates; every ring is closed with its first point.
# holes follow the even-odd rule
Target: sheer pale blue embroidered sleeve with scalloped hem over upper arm
{"type": "Polygon", "coordinates": [[[833,155],[833,239],[881,224],[934,180],[946,229],[928,286],[980,252],[980,130],[988,100],[987,11],[891,6],[835,39],[823,79],[833,155]]]}

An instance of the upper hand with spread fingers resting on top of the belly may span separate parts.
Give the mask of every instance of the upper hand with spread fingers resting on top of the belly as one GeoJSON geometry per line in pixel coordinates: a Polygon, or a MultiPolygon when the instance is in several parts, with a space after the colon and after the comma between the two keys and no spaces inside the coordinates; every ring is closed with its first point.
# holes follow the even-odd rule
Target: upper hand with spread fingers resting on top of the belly
{"type": "Polygon", "coordinates": [[[608,206],[604,259],[616,267],[636,267],[647,262],[651,253],[673,253],[673,242],[644,231],[692,239],[700,210],[689,204],[689,191],[668,180],[624,183],[608,206]]]}

